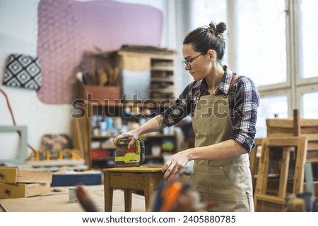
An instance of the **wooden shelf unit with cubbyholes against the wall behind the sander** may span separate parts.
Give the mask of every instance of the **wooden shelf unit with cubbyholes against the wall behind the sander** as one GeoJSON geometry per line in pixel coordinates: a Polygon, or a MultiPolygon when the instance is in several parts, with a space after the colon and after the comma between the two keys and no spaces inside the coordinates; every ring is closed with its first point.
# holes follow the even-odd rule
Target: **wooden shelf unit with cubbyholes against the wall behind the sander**
{"type": "MultiPolygon", "coordinates": [[[[108,98],[104,99],[86,99],[83,100],[84,107],[86,108],[86,124],[87,124],[87,150],[88,150],[88,165],[92,168],[95,167],[112,167],[114,163],[114,151],[115,146],[105,142],[107,139],[113,139],[114,135],[93,135],[93,134],[117,134],[117,132],[124,131],[124,127],[116,126],[116,131],[106,131],[105,125],[96,123],[93,121],[93,115],[99,115],[101,118],[122,118],[122,125],[128,127],[129,123],[141,123],[140,119],[143,118],[147,120],[148,118],[153,118],[158,113],[165,110],[165,108],[170,107],[172,101],[175,101],[174,90],[175,90],[175,72],[176,72],[176,54],[175,51],[167,51],[166,49],[153,49],[153,48],[137,48],[129,46],[128,48],[120,49],[119,51],[112,51],[111,53],[92,53],[88,52],[93,58],[101,58],[102,61],[112,62],[112,68],[118,68],[118,84],[121,86],[120,95],[127,93],[133,96],[133,92],[140,92],[141,96],[138,99],[141,101],[134,101],[134,98],[124,97],[122,100],[120,98],[111,99],[107,101],[108,98]],[[144,89],[134,90],[131,89],[131,84],[141,85],[141,80],[134,80],[134,73],[139,73],[140,76],[147,76],[147,87],[141,87],[144,89]],[[140,73],[141,72],[141,73],[140,73]],[[129,81],[127,83],[127,81],[129,81]],[[131,82],[130,82],[131,81],[131,82]],[[149,82],[148,82],[149,81],[149,82]],[[135,83],[134,83],[135,82],[135,83]],[[148,87],[149,85],[149,87],[148,87]],[[95,100],[95,101],[93,101],[95,100]],[[130,109],[129,109],[130,108],[130,109]],[[93,122],[93,124],[92,124],[93,122]],[[92,127],[93,125],[93,127],[92,127]],[[94,131],[93,131],[94,129],[94,131]],[[94,133],[93,133],[94,132],[94,133]],[[100,149],[100,155],[98,152],[93,151],[93,146],[98,146],[100,149]],[[107,151],[107,153],[105,153],[107,151]],[[95,155],[94,155],[95,154],[95,155]],[[92,158],[93,157],[93,158],[92,158]],[[100,157],[100,158],[99,158],[100,157]],[[94,163],[94,164],[93,164],[94,163]]],[[[143,80],[143,81],[146,81],[143,80]]],[[[104,94],[102,92],[102,94],[104,94]]],[[[94,118],[95,120],[95,118],[94,118]]],[[[106,121],[106,127],[109,123],[106,121]]],[[[97,120],[100,122],[100,120],[97,120]]],[[[114,122],[114,120],[113,120],[114,122]]],[[[119,124],[120,125],[120,124],[119,124]]],[[[114,126],[115,127],[115,126],[114,126]]],[[[170,130],[169,130],[170,131],[170,130]]],[[[158,144],[166,144],[166,139],[173,139],[174,143],[172,152],[177,151],[177,135],[176,134],[143,134],[139,137],[141,140],[145,141],[145,152],[147,163],[163,163],[163,156],[151,156],[151,149],[158,144]]],[[[160,147],[161,148],[161,147],[160,147]]],[[[164,149],[161,148],[161,153],[164,149]]]]}

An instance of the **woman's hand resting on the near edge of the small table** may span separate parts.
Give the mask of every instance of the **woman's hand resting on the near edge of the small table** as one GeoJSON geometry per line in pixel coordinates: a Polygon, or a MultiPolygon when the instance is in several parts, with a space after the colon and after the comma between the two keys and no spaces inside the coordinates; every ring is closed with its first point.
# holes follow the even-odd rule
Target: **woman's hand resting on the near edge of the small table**
{"type": "Polygon", "coordinates": [[[163,165],[163,177],[167,180],[175,180],[189,162],[186,151],[180,151],[170,156],[163,165]]]}

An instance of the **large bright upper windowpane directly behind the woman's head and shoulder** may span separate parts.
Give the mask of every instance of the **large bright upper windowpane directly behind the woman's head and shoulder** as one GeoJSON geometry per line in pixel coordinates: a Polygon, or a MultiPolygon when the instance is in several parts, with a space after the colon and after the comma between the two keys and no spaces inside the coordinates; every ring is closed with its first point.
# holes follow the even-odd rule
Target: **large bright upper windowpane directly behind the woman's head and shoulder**
{"type": "Polygon", "coordinates": [[[237,0],[237,73],[257,86],[287,81],[284,0],[237,0]]]}

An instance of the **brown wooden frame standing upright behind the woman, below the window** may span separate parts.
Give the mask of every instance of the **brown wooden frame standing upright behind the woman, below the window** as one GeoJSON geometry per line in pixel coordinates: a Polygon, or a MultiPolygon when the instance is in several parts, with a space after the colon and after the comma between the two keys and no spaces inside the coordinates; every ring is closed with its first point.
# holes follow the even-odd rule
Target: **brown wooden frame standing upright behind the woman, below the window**
{"type": "MultiPolygon", "coordinates": [[[[254,192],[255,211],[264,211],[260,203],[272,203],[280,205],[281,211],[285,207],[287,194],[288,170],[290,153],[295,151],[295,174],[293,179],[293,194],[302,192],[304,187],[305,160],[307,156],[307,137],[268,137],[262,140],[261,158],[259,160],[259,171],[254,192]],[[280,173],[280,182],[277,195],[267,193],[267,182],[269,176],[270,151],[283,151],[280,173]],[[283,205],[283,206],[282,206],[283,205]]],[[[277,211],[277,210],[276,210],[277,211]]]]}

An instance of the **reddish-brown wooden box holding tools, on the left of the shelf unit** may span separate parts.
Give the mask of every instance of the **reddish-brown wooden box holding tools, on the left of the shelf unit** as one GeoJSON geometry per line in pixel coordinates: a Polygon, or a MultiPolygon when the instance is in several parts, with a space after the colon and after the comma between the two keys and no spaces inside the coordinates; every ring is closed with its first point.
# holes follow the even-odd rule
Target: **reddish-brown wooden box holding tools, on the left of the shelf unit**
{"type": "Polygon", "coordinates": [[[78,82],[78,98],[95,103],[118,103],[121,90],[119,86],[85,85],[78,82]]]}

